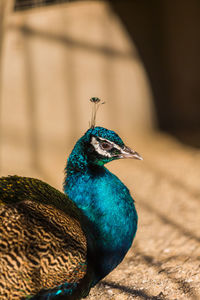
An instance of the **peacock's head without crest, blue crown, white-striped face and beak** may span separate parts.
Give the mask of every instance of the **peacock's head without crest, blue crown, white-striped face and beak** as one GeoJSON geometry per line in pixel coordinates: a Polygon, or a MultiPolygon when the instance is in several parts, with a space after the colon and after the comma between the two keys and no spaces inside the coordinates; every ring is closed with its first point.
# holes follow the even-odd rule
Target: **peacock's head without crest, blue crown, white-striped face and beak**
{"type": "Polygon", "coordinates": [[[122,139],[112,130],[103,127],[90,128],[84,135],[85,155],[87,161],[104,165],[112,160],[120,158],[134,158],[142,160],[142,157],[134,150],[127,147],[122,139]]]}

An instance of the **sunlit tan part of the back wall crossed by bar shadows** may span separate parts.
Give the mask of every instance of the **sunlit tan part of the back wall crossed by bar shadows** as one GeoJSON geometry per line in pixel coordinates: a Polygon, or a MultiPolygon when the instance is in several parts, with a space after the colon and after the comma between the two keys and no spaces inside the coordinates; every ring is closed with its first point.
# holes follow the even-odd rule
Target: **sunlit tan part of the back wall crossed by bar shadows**
{"type": "MultiPolygon", "coordinates": [[[[17,3],[26,8],[25,2],[17,3]]],[[[146,71],[111,4],[74,1],[13,12],[12,4],[5,3],[3,170],[31,167],[49,173],[47,157],[56,159],[55,153],[66,151],[87,130],[92,96],[106,102],[98,115],[102,126],[122,135],[154,126],[146,71]],[[13,147],[14,153],[8,157],[13,147]],[[19,164],[22,151],[23,163],[19,164]]]]}

